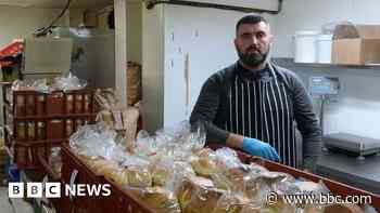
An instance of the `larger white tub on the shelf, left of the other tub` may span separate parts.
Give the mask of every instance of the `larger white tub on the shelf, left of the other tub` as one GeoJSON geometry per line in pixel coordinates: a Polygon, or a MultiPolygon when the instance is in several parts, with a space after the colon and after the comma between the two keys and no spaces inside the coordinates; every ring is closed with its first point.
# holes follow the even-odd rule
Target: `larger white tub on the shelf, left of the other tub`
{"type": "Polygon", "coordinates": [[[318,31],[296,31],[294,35],[294,62],[317,62],[318,31]]]}

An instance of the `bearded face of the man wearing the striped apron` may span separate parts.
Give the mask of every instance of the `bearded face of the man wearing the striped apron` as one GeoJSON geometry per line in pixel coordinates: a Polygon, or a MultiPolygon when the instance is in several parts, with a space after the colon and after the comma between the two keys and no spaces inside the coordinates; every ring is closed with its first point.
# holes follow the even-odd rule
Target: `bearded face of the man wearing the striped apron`
{"type": "Polygon", "coordinates": [[[271,40],[269,26],[264,22],[240,25],[235,39],[240,61],[250,67],[262,65],[268,55],[271,40]]]}

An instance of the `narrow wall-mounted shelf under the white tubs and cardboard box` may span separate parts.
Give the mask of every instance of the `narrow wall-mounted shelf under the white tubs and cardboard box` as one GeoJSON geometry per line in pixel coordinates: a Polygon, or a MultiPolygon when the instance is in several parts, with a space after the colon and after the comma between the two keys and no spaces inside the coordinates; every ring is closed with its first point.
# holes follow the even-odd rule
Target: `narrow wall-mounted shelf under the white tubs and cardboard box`
{"type": "Polygon", "coordinates": [[[369,65],[338,65],[319,63],[294,63],[291,57],[274,57],[273,62],[283,67],[313,67],[313,68],[337,68],[337,69],[380,69],[380,64],[369,65]]]}

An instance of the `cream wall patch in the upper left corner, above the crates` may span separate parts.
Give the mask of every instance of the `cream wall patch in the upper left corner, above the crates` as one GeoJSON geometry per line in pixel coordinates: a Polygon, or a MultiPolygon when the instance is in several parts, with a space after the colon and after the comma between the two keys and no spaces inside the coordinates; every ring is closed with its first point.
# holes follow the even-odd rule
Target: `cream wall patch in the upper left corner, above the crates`
{"type": "MultiPolygon", "coordinates": [[[[60,9],[0,6],[0,48],[13,39],[28,37],[37,28],[49,25],[61,11],[60,9]]],[[[67,26],[68,15],[60,23],[67,26]]]]}

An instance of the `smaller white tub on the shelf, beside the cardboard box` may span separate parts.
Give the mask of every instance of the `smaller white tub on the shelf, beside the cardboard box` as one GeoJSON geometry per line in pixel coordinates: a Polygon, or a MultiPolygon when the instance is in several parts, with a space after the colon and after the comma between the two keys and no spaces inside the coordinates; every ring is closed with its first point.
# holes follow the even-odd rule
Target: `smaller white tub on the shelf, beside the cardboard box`
{"type": "Polygon", "coordinates": [[[319,35],[317,39],[317,63],[331,63],[332,35],[319,35]]]}

